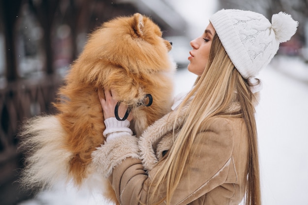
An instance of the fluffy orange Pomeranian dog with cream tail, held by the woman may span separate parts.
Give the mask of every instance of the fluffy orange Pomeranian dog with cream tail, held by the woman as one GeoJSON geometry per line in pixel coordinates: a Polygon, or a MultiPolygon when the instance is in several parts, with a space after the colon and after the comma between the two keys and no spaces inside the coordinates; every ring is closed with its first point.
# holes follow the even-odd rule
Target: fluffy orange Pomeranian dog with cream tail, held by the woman
{"type": "MultiPolygon", "coordinates": [[[[112,89],[119,104],[133,111],[131,128],[137,137],[167,114],[176,69],[168,55],[171,48],[159,27],[139,13],[96,29],[59,89],[54,103],[58,113],[33,117],[22,127],[20,150],[26,156],[22,184],[47,188],[73,181],[81,186],[95,176],[91,153],[105,142],[98,98],[98,92],[104,96],[103,89],[112,89]]],[[[111,186],[106,190],[106,197],[116,202],[111,186]]]]}

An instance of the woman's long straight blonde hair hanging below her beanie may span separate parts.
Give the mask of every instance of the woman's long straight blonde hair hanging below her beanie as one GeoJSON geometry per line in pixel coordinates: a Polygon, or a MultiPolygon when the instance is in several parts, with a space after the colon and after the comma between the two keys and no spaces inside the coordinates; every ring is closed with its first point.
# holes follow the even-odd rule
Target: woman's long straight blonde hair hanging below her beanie
{"type": "Polygon", "coordinates": [[[166,183],[166,197],[163,200],[167,205],[170,204],[173,193],[183,176],[184,167],[189,163],[192,144],[200,130],[201,123],[211,117],[220,115],[243,117],[245,120],[248,130],[245,204],[260,205],[261,194],[257,131],[253,105],[254,95],[250,91],[246,80],[234,67],[216,34],[212,42],[206,68],[203,74],[197,78],[194,88],[186,96],[178,110],[181,110],[193,94],[195,96],[187,109],[185,122],[168,156],[160,162],[161,166],[158,167],[153,178],[155,184],[150,186],[151,196],[149,196],[149,202],[153,202],[155,193],[159,192],[159,187],[166,183]],[[238,113],[226,113],[227,108],[234,101],[240,103],[241,111],[238,113]]]}

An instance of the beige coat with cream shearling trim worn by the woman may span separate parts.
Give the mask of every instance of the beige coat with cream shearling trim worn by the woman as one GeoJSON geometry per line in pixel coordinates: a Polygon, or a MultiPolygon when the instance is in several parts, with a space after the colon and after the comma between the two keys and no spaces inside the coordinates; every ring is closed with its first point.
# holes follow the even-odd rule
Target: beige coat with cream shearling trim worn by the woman
{"type": "MultiPolygon", "coordinates": [[[[230,109],[239,108],[231,106],[230,109]]],[[[185,118],[180,116],[177,127],[181,127],[185,118]]],[[[159,166],[157,162],[163,160],[163,153],[173,145],[174,117],[175,113],[171,112],[157,120],[140,139],[123,136],[106,142],[92,153],[96,169],[109,177],[121,205],[153,203],[147,202],[148,186],[159,166]]],[[[209,128],[200,130],[197,138],[198,143],[191,149],[192,162],[185,167],[171,204],[240,204],[245,193],[248,152],[244,120],[214,117],[209,128]]],[[[155,200],[162,197],[163,194],[157,195],[155,200]]]]}

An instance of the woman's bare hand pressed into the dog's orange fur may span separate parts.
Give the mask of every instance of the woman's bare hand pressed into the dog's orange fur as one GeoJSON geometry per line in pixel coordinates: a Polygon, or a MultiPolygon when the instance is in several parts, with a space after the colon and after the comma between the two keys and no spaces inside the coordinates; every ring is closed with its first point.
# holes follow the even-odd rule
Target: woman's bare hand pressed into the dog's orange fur
{"type": "MultiPolygon", "coordinates": [[[[101,95],[100,90],[98,90],[98,97],[99,97],[99,101],[100,101],[100,105],[103,109],[103,114],[104,114],[104,118],[107,119],[109,117],[115,117],[115,107],[118,103],[117,100],[113,99],[113,92],[112,90],[105,90],[104,89],[104,93],[105,93],[105,99],[103,98],[103,96],[101,95]]],[[[122,104],[121,104],[122,105],[122,104]]],[[[125,112],[127,110],[127,107],[125,106],[120,106],[119,107],[119,117],[123,117],[125,115],[125,112]]],[[[127,117],[127,119],[129,121],[132,120],[132,115],[131,113],[129,114],[129,116],[127,117]]]]}

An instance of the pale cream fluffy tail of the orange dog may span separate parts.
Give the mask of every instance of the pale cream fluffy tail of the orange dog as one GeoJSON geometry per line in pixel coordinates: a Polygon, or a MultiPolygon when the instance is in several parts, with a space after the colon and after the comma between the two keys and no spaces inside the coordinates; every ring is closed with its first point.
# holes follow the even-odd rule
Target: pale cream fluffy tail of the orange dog
{"type": "Polygon", "coordinates": [[[69,181],[69,160],[65,149],[65,131],[55,116],[29,119],[20,133],[19,150],[25,153],[21,184],[26,188],[48,188],[69,181]]]}

